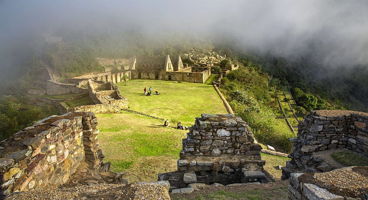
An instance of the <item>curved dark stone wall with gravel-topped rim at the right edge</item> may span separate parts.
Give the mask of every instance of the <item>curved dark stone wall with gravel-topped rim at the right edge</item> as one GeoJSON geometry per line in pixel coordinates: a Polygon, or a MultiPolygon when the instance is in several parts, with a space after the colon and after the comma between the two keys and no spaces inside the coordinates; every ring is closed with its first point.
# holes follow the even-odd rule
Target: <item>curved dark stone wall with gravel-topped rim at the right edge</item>
{"type": "Polygon", "coordinates": [[[315,152],[346,148],[368,156],[368,113],[346,110],[317,110],[304,117],[298,125],[297,138],[289,157],[292,159],[283,168],[283,178],[290,172],[330,171],[313,157],[315,152]]]}

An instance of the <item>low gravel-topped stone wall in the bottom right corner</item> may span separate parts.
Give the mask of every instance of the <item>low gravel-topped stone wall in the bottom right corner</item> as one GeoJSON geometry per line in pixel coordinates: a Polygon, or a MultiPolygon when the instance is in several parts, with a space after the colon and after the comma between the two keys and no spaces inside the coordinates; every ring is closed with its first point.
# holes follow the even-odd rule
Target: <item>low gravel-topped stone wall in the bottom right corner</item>
{"type": "Polygon", "coordinates": [[[346,167],[322,173],[292,173],[291,200],[368,199],[368,167],[346,167]]]}

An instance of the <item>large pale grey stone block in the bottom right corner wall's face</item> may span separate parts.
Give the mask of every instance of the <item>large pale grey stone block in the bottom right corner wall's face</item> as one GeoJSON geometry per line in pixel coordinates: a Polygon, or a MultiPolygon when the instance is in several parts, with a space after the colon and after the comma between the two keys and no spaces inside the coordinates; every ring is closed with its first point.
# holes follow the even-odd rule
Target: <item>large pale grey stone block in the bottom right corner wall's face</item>
{"type": "Polygon", "coordinates": [[[304,183],[303,184],[303,194],[309,200],[344,200],[344,197],[333,194],[324,188],[320,188],[314,184],[304,183]]]}

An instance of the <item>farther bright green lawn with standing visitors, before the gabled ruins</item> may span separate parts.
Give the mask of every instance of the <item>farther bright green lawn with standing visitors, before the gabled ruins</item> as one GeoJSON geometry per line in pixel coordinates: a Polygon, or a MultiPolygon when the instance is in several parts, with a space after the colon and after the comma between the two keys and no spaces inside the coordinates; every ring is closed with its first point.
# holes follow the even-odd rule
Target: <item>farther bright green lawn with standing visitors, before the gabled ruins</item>
{"type": "Polygon", "coordinates": [[[121,95],[128,98],[130,110],[150,114],[170,121],[181,121],[191,126],[195,117],[202,113],[227,114],[219,95],[210,84],[173,83],[162,80],[128,80],[118,83],[121,95]],[[160,95],[144,96],[144,88],[152,86],[152,93],[160,95]]]}

